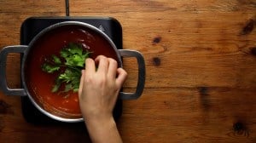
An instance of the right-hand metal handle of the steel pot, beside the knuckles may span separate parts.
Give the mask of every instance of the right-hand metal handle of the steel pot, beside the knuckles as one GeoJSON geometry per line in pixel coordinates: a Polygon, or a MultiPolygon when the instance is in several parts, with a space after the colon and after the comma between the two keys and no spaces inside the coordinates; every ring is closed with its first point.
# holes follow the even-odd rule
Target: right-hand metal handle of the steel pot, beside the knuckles
{"type": "Polygon", "coordinates": [[[119,49],[122,57],[136,57],[138,65],[137,89],[135,93],[120,92],[119,98],[122,100],[136,100],[143,94],[145,84],[145,61],[143,55],[135,50],[119,49]]]}

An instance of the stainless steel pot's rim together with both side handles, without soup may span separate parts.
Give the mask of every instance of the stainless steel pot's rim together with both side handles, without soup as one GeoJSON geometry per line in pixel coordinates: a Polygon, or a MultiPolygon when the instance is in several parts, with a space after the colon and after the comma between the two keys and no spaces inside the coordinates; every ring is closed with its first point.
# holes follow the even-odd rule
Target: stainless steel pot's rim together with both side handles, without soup
{"type": "MultiPolygon", "coordinates": [[[[143,55],[135,50],[128,50],[128,49],[117,49],[113,41],[102,31],[97,29],[95,26],[91,26],[89,24],[78,22],[78,21],[65,21],[61,23],[57,23],[55,25],[49,26],[45,28],[43,31],[40,31],[36,37],[34,37],[28,45],[15,45],[15,46],[8,46],[2,49],[0,52],[0,89],[3,91],[4,94],[7,95],[20,95],[20,96],[28,96],[29,99],[32,101],[32,104],[38,108],[40,112],[43,112],[48,117],[51,117],[55,120],[61,121],[61,122],[68,122],[68,123],[75,123],[75,122],[81,122],[84,119],[82,117],[79,118],[70,118],[70,117],[59,117],[56,116],[54,113],[48,112],[44,109],[43,106],[40,106],[37,100],[35,100],[31,93],[28,90],[28,86],[26,83],[26,74],[25,74],[25,63],[27,60],[27,56],[30,53],[31,49],[34,49],[34,44],[42,37],[45,33],[54,30],[57,27],[61,26],[69,26],[69,25],[75,25],[75,26],[84,26],[86,28],[89,28],[92,31],[96,31],[99,33],[102,38],[105,38],[109,44],[111,44],[113,50],[115,51],[117,57],[118,57],[118,63],[120,67],[123,67],[121,57],[135,57],[137,58],[137,65],[138,65],[138,79],[137,79],[137,89],[135,93],[119,93],[119,98],[122,100],[134,100],[139,98],[144,89],[144,83],[145,83],[145,63],[143,59],[143,55]],[[6,60],[7,55],[9,53],[21,53],[24,54],[23,58],[21,60],[21,84],[23,89],[9,89],[6,81],[6,60]]],[[[17,63],[15,63],[17,64],[17,63]]]]}

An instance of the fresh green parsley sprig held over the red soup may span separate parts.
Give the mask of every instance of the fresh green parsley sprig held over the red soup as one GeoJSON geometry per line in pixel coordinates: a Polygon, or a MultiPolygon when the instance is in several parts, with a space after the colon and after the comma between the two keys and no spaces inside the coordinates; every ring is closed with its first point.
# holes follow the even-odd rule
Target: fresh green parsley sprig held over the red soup
{"type": "Polygon", "coordinates": [[[44,59],[42,70],[47,73],[60,72],[55,78],[55,85],[51,92],[59,91],[62,84],[65,85],[63,92],[73,90],[78,92],[81,70],[84,69],[84,60],[89,57],[90,52],[83,49],[79,43],[69,43],[61,49],[61,57],[53,54],[44,59]]]}

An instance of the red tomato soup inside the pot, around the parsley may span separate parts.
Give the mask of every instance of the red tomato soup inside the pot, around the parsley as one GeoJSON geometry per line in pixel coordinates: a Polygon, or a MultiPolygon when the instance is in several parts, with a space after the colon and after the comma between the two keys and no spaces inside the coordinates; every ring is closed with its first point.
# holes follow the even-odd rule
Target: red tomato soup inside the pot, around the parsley
{"type": "Polygon", "coordinates": [[[45,57],[55,54],[60,57],[60,51],[68,43],[81,43],[84,49],[92,52],[91,58],[103,54],[118,60],[115,51],[108,41],[96,31],[84,26],[61,26],[46,32],[32,45],[25,67],[26,85],[29,94],[47,112],[61,117],[82,117],[79,109],[78,93],[52,93],[55,78],[59,73],[49,74],[42,71],[45,57]]]}

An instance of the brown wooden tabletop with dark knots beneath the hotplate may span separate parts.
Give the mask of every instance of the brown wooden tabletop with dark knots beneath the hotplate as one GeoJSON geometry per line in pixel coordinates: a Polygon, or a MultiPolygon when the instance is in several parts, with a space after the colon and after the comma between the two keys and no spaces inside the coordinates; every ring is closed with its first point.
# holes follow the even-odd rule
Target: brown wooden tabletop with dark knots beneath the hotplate
{"type": "MultiPolygon", "coordinates": [[[[145,58],[143,95],[124,101],[118,121],[124,142],[256,142],[254,0],[70,0],[70,15],[116,18],[124,49],[145,58]]],[[[0,0],[1,49],[20,44],[31,16],[65,16],[65,1],[0,0]]],[[[20,87],[19,63],[9,54],[12,88],[20,87]]],[[[132,91],[136,60],[124,65],[132,91]]],[[[26,123],[20,98],[0,94],[1,143],[89,140],[82,127],[26,123]]]]}

